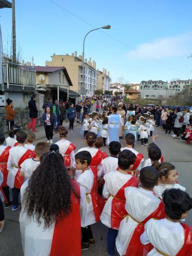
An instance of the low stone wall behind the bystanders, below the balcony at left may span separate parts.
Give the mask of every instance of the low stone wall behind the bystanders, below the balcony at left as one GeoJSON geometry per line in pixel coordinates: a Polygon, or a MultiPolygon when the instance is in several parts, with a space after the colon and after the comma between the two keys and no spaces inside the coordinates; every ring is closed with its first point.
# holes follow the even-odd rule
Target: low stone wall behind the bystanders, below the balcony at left
{"type": "MultiPolygon", "coordinates": [[[[38,112],[36,126],[43,125],[40,121],[40,117],[42,116],[42,113],[43,113],[43,110],[41,112],[38,112]]],[[[4,108],[0,109],[0,132],[1,133],[7,133],[7,123],[5,120],[5,116],[6,116],[5,109],[4,108]]],[[[31,121],[31,118],[29,118],[29,110],[17,110],[14,121],[15,121],[15,124],[22,127],[22,129],[25,129],[31,121]]]]}

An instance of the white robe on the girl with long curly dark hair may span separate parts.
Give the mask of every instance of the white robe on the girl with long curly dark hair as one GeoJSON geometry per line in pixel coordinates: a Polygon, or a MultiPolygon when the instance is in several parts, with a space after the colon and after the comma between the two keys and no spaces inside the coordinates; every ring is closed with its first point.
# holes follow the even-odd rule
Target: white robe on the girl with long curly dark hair
{"type": "Polygon", "coordinates": [[[24,256],[49,256],[53,239],[54,223],[49,229],[44,230],[44,219],[40,218],[41,224],[36,222],[34,218],[27,217],[25,211],[25,202],[23,201],[23,193],[28,187],[28,180],[23,183],[20,189],[21,193],[21,212],[19,215],[21,241],[24,256]]]}

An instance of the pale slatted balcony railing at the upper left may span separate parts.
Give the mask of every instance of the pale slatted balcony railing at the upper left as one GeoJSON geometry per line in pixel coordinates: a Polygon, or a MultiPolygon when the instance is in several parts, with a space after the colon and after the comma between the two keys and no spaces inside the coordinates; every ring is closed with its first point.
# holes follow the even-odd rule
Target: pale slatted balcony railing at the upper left
{"type": "Polygon", "coordinates": [[[3,83],[9,89],[9,85],[24,87],[36,86],[36,70],[31,67],[13,63],[3,63],[3,83]]]}

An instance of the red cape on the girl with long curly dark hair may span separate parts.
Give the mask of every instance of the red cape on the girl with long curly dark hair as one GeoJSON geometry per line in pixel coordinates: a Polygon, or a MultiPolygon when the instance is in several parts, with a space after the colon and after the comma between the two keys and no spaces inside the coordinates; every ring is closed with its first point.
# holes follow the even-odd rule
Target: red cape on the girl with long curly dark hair
{"type": "MultiPolygon", "coordinates": [[[[77,182],[71,180],[71,183],[75,193],[80,196],[77,182]]],[[[81,256],[80,200],[73,191],[71,191],[71,210],[65,217],[57,217],[50,256],[81,256]]]]}

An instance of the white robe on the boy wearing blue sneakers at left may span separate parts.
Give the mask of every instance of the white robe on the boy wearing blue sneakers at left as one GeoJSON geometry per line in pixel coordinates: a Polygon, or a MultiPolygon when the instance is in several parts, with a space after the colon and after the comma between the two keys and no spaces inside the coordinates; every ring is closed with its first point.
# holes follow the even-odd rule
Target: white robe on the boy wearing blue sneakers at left
{"type": "Polygon", "coordinates": [[[7,176],[7,185],[10,188],[14,188],[15,176],[18,172],[18,168],[16,168],[15,166],[18,167],[19,159],[25,154],[26,151],[27,151],[27,148],[22,146],[16,146],[16,147],[10,148],[10,154],[7,162],[7,170],[9,170],[8,176],[7,176]]]}

